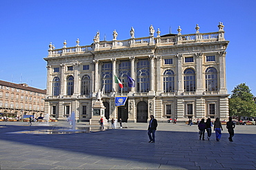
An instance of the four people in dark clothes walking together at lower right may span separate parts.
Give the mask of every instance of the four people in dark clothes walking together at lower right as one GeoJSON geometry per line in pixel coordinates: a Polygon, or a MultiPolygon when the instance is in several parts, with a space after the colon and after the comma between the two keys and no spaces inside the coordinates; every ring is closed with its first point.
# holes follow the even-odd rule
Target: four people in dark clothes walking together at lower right
{"type": "MultiPolygon", "coordinates": [[[[226,123],[226,128],[228,129],[229,133],[229,141],[233,142],[232,137],[234,136],[234,128],[235,128],[235,123],[232,121],[232,117],[228,118],[228,122],[226,123]]],[[[198,124],[199,127],[199,140],[205,140],[205,130],[207,131],[207,138],[210,140],[210,137],[212,135],[212,122],[211,119],[208,118],[205,122],[205,119],[202,118],[200,123],[198,124]]],[[[221,121],[219,118],[216,118],[214,121],[213,125],[213,130],[215,131],[216,134],[216,140],[219,141],[221,139],[221,131],[223,131],[221,121]]]]}

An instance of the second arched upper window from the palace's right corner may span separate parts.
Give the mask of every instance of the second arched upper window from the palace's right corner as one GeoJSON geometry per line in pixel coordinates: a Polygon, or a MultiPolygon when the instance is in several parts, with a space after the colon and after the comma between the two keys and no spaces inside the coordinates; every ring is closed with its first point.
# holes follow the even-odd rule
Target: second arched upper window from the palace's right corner
{"type": "Polygon", "coordinates": [[[190,68],[184,71],[184,91],[185,92],[196,91],[195,72],[190,68]]]}

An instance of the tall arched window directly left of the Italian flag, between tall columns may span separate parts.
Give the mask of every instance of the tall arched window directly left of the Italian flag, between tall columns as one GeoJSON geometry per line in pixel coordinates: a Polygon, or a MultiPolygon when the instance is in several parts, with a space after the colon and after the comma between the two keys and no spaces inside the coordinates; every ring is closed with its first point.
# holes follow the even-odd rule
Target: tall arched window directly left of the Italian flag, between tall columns
{"type": "Polygon", "coordinates": [[[103,63],[102,65],[102,86],[104,93],[109,94],[112,89],[112,63],[103,63]]]}

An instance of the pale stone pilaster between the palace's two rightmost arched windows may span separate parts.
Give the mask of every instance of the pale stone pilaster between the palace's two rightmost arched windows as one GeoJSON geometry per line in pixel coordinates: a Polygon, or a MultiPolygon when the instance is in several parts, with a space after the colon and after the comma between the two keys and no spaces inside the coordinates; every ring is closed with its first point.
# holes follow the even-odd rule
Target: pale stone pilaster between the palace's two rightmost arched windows
{"type": "Polygon", "coordinates": [[[203,94],[203,72],[202,72],[202,60],[203,53],[199,52],[196,56],[196,94],[203,94]]]}

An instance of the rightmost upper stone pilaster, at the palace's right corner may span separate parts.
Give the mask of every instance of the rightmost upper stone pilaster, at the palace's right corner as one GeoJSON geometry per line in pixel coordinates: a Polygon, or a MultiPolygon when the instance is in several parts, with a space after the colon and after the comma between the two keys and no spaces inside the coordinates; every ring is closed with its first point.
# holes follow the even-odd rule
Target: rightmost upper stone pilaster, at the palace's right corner
{"type": "Polygon", "coordinates": [[[219,52],[219,93],[227,94],[226,88],[226,53],[225,51],[219,52]]]}

